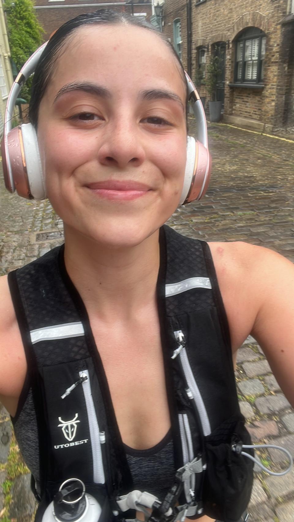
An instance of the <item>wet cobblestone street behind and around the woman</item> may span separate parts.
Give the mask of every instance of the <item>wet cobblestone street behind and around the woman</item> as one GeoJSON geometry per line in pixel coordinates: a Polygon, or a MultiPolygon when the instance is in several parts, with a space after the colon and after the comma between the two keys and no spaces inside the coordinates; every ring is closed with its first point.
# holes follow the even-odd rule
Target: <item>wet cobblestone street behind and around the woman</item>
{"type": "MultiPolygon", "coordinates": [[[[194,120],[189,122],[193,134],[194,120]]],[[[213,172],[207,195],[199,203],[178,209],[170,226],[194,238],[269,247],[294,262],[294,142],[222,124],[210,125],[209,141],[213,172]]],[[[49,202],[9,195],[1,175],[0,222],[0,275],[62,242],[62,223],[49,202]]],[[[294,455],[294,411],[251,337],[239,350],[236,380],[253,443],[285,446],[294,455]]],[[[2,415],[0,405],[0,463],[4,464],[8,446],[1,442],[1,433],[9,429],[2,415]]],[[[287,467],[283,455],[274,449],[256,454],[267,467],[278,471],[287,467]]],[[[2,466],[0,518],[5,478],[2,466]]],[[[15,496],[9,517],[20,520],[15,496]]],[[[293,522],[294,472],[271,477],[256,467],[250,514],[252,522],[293,522]]],[[[26,515],[31,512],[21,514],[26,515]]]]}

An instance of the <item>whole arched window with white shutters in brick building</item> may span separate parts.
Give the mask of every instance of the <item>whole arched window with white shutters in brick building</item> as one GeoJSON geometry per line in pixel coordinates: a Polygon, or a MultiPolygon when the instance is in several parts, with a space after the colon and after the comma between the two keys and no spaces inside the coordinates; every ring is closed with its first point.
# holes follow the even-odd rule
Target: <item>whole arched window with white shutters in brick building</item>
{"type": "Polygon", "coordinates": [[[257,27],[243,31],[236,40],[234,81],[242,84],[262,83],[266,35],[257,27]]]}

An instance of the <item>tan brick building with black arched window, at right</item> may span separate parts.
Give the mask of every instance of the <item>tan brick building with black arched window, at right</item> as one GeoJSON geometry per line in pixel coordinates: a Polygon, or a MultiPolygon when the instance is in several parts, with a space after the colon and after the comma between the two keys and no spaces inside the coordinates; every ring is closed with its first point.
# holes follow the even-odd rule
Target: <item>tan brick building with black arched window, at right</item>
{"type": "Polygon", "coordinates": [[[201,69],[205,82],[209,58],[221,58],[225,121],[294,125],[294,0],[165,0],[163,32],[192,79],[201,69]]]}

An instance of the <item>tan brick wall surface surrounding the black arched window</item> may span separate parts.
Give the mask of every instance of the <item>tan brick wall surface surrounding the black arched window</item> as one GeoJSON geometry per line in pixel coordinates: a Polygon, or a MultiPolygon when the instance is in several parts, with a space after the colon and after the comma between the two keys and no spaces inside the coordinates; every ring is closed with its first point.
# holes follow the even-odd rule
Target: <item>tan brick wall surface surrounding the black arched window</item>
{"type": "MultiPolygon", "coordinates": [[[[254,118],[265,125],[285,125],[294,120],[294,21],[282,23],[288,0],[204,0],[192,2],[192,78],[198,67],[199,46],[207,46],[206,62],[214,43],[226,43],[225,115],[254,118]],[[264,88],[232,87],[235,40],[244,29],[256,27],[266,34],[264,88]],[[286,116],[287,114],[287,116],[286,116]]],[[[173,20],[182,21],[182,62],[187,63],[186,5],[183,0],[166,0],[164,33],[173,41],[173,20]]],[[[201,96],[207,96],[205,86],[201,96]]]]}

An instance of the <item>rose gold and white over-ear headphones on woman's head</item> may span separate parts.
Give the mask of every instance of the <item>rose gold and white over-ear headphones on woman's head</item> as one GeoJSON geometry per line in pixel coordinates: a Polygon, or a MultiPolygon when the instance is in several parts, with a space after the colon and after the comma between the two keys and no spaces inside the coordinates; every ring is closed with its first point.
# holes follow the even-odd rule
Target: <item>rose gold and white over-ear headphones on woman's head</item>
{"type": "MultiPolygon", "coordinates": [[[[23,65],[11,87],[4,121],[1,144],[5,186],[9,192],[17,192],[27,199],[46,197],[44,173],[40,160],[36,129],[31,123],[11,129],[11,120],[19,91],[36,69],[40,56],[48,42],[41,45],[23,65]]],[[[198,140],[187,137],[187,159],[180,205],[202,198],[207,190],[211,160],[207,143],[207,125],[203,105],[191,79],[186,74],[189,102],[197,120],[198,140]]]]}

